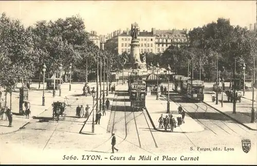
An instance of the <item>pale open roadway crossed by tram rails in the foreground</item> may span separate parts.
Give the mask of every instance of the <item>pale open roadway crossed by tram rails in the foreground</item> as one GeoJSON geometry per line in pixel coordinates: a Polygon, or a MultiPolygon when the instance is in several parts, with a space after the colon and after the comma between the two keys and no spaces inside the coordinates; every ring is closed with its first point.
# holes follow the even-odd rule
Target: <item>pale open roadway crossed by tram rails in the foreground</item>
{"type": "MultiPolygon", "coordinates": [[[[125,87],[124,91],[126,91],[125,87]]],[[[79,134],[85,118],[75,118],[75,109],[78,103],[87,99],[78,96],[76,97],[78,100],[67,109],[65,120],[61,120],[59,123],[33,120],[23,130],[0,135],[0,145],[3,148],[17,145],[17,148],[19,147],[23,151],[26,149],[45,152],[61,150],[62,154],[73,151],[109,154],[111,152],[111,133],[114,131],[117,138],[116,147],[119,149],[117,155],[132,153],[152,156],[174,153],[192,155],[195,152],[207,154],[208,152],[204,152],[206,151],[204,148],[210,148],[211,151],[214,151],[214,147],[220,147],[224,154],[225,147],[233,150],[225,156],[244,155],[242,138],[248,138],[252,142],[248,155],[257,155],[256,132],[248,130],[204,104],[185,103],[181,96],[171,94],[171,100],[181,104],[186,109],[186,116],[191,116],[205,130],[199,133],[163,133],[153,130],[150,118],[145,112],[131,112],[130,102],[128,102],[128,96],[124,91],[117,92],[114,97],[116,100],[114,100],[112,112],[108,112],[105,117],[102,116],[101,124],[103,126],[97,126],[103,128],[102,133],[96,135],[79,134]],[[109,117],[111,118],[109,119],[109,117]]],[[[69,98],[70,100],[75,99],[75,97],[69,98]]],[[[93,101],[91,100],[91,102],[93,101]]],[[[159,106],[156,105],[156,107],[159,106]]],[[[3,148],[1,149],[2,153],[5,151],[3,148]]]]}

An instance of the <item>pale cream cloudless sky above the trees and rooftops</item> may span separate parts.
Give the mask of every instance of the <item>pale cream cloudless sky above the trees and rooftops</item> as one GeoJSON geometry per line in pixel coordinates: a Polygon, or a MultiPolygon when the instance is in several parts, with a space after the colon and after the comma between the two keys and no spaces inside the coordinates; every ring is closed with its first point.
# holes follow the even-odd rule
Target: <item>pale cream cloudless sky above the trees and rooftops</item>
{"type": "Polygon", "coordinates": [[[0,13],[25,26],[36,21],[65,19],[79,14],[87,31],[107,34],[131,28],[183,29],[230,19],[242,27],[256,23],[256,1],[0,1],[0,13]]]}

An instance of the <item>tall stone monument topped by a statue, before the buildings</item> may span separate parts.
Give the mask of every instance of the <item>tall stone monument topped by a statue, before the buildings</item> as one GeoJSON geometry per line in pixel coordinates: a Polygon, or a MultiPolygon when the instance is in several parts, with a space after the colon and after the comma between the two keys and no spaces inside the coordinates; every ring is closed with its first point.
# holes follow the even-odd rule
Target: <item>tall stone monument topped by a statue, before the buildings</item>
{"type": "Polygon", "coordinates": [[[131,53],[128,63],[125,64],[125,68],[132,69],[145,69],[145,57],[143,58],[143,62],[140,60],[140,51],[139,51],[139,40],[137,39],[137,35],[139,32],[139,27],[137,23],[131,24],[131,53]]]}

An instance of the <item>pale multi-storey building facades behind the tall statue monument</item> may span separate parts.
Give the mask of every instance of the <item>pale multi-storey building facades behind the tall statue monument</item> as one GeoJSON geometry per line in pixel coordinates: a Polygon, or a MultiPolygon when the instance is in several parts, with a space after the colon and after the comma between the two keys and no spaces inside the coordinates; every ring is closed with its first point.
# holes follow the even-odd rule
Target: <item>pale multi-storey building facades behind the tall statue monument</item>
{"type": "MultiPolygon", "coordinates": [[[[104,43],[104,49],[107,49],[115,54],[122,52],[131,52],[131,31],[127,28],[126,31],[117,30],[107,34],[104,43]]],[[[140,53],[153,52],[162,53],[171,45],[179,45],[180,43],[187,42],[188,30],[156,30],[138,32],[140,53]]]]}

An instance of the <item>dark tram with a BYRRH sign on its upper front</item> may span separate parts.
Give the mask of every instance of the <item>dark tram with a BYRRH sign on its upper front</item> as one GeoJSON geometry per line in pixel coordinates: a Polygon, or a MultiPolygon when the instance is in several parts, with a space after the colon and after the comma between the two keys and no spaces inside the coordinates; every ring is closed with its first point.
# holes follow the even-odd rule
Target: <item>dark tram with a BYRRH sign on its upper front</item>
{"type": "Polygon", "coordinates": [[[145,107],[146,86],[144,81],[131,83],[131,110],[138,111],[145,107]]]}

